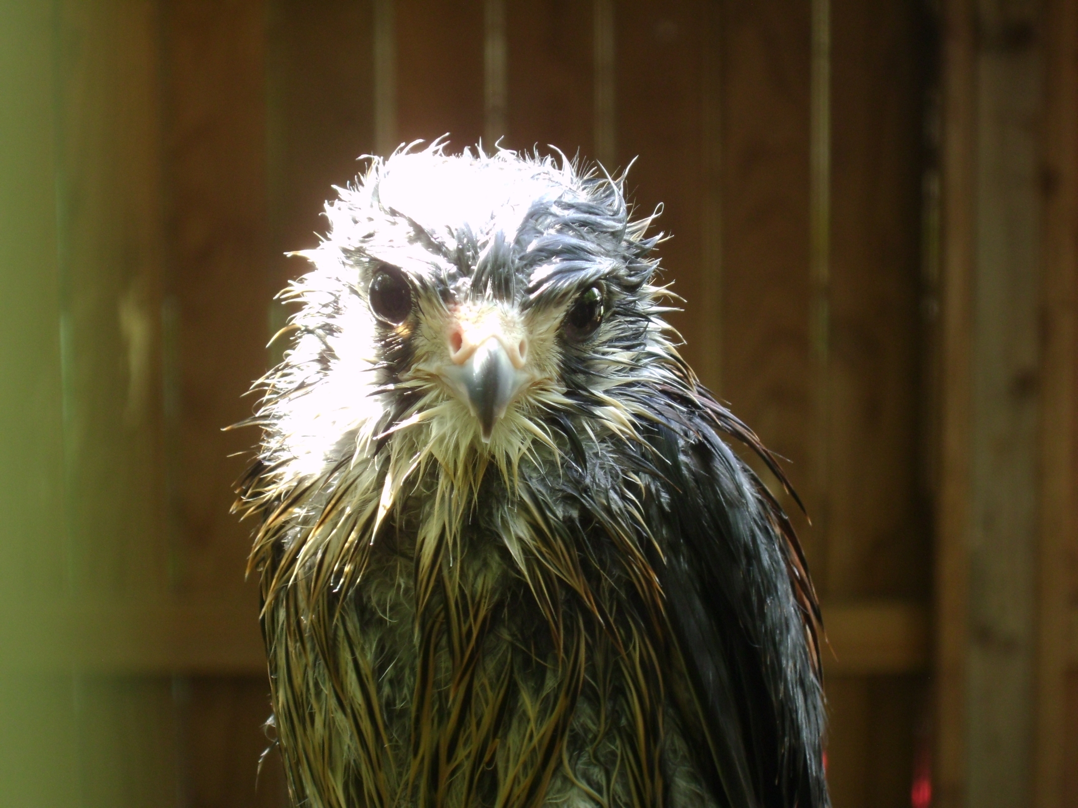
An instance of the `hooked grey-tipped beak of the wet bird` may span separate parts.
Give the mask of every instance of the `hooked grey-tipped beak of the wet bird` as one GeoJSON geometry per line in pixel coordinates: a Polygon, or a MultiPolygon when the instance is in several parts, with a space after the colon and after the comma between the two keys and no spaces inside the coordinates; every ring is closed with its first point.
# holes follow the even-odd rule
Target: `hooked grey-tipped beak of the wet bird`
{"type": "Polygon", "coordinates": [[[483,443],[488,443],[494,424],[531,376],[523,370],[520,351],[514,362],[497,335],[488,336],[470,351],[454,354],[453,364],[442,370],[442,377],[479,419],[483,443]]]}

